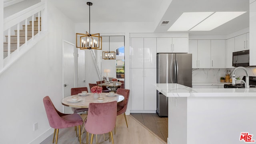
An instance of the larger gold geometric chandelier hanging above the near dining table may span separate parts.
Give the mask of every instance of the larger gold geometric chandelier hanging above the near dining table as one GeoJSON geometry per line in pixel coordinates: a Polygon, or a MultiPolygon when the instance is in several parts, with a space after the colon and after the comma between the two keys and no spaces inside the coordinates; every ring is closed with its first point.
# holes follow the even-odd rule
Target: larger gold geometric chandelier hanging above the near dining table
{"type": "Polygon", "coordinates": [[[76,33],[76,48],[84,49],[102,49],[102,37],[100,34],[90,34],[90,6],[91,2],[87,2],[89,6],[89,33],[86,31],[86,34],[76,33]]]}

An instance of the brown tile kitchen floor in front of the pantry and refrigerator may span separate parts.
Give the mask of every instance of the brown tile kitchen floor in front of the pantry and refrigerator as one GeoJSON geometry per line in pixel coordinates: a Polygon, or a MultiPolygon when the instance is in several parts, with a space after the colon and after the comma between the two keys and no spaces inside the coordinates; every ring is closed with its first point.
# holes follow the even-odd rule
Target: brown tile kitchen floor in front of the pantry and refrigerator
{"type": "Polygon", "coordinates": [[[157,136],[167,142],[168,138],[168,117],[160,118],[157,114],[141,114],[132,113],[130,114],[146,128],[154,132],[157,136]]]}

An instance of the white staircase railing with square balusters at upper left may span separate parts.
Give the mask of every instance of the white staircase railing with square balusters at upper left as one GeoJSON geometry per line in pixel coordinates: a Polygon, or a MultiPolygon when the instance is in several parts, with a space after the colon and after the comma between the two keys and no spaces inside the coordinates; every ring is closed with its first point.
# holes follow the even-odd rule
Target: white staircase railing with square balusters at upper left
{"type": "MultiPolygon", "coordinates": [[[[3,50],[4,48],[1,48],[2,50],[0,50],[0,66],[2,65],[3,67],[0,68],[0,73],[2,73],[2,71],[4,71],[8,66],[10,66],[10,64],[12,62],[14,62],[17,58],[19,58],[22,54],[24,54],[24,51],[27,51],[26,46],[28,46],[28,44],[31,41],[34,41],[36,37],[40,36],[40,34],[42,32],[46,31],[46,12],[45,12],[45,2],[39,2],[33,6],[30,6],[24,10],[21,10],[20,12],[13,14],[7,18],[4,18],[4,24],[3,24],[3,32],[4,32],[4,37],[8,37],[6,38],[6,42],[8,43],[8,48],[7,50],[3,50]],[[38,30],[34,30],[34,26],[36,24],[34,24],[34,20],[38,19],[38,26],[36,26],[36,29],[38,30]],[[42,20],[42,22],[41,22],[42,20]],[[31,31],[31,38],[30,40],[28,40],[28,22],[32,22],[32,26],[29,25],[30,27],[32,27],[31,31]],[[20,27],[25,26],[25,30],[20,30],[20,27]],[[41,25],[41,26],[40,26],[41,25]],[[14,30],[16,31],[15,36],[11,36],[14,35],[14,30]],[[24,33],[24,38],[21,40],[20,32],[24,33]],[[35,33],[34,33],[35,32],[35,33]],[[36,34],[37,33],[37,34],[36,34]],[[17,39],[15,39],[17,36],[17,39]],[[14,37],[11,39],[11,37],[14,37]],[[15,48],[16,50],[11,50],[11,44],[13,44],[15,40],[15,43],[17,41],[17,48],[15,48]],[[22,41],[22,42],[21,42],[22,41]],[[24,43],[22,46],[20,46],[22,43],[24,43]],[[4,51],[7,51],[7,55],[5,56],[6,58],[3,58],[4,55],[4,51]],[[11,53],[12,52],[12,53],[11,53]]],[[[14,46],[16,47],[16,46],[14,46]]],[[[13,49],[13,48],[12,48],[13,49]]]]}

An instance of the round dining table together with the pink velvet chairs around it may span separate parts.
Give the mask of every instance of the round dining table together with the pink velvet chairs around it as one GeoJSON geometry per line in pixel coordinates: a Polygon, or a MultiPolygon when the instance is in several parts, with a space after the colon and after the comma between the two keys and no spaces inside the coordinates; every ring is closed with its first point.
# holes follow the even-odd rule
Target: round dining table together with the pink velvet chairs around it
{"type": "Polygon", "coordinates": [[[75,141],[80,144],[92,144],[94,141],[96,144],[106,141],[114,144],[112,130],[116,134],[118,115],[124,115],[128,128],[125,112],[130,90],[118,88],[114,92],[102,92],[102,89],[100,86],[92,86],[88,92],[87,87],[71,88],[70,96],[63,98],[61,103],[72,108],[73,114],[61,113],[54,107],[49,96],[44,97],[46,115],[50,126],[54,128],[52,143],[58,143],[59,129],[73,127],[77,137],[75,141]]]}

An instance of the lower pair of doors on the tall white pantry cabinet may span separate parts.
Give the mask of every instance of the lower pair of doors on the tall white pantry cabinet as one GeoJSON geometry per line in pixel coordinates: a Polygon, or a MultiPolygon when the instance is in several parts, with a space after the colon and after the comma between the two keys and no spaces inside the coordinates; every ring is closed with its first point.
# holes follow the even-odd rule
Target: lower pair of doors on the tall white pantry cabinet
{"type": "Polygon", "coordinates": [[[131,68],[131,110],[156,110],[156,68],[131,68]]]}

